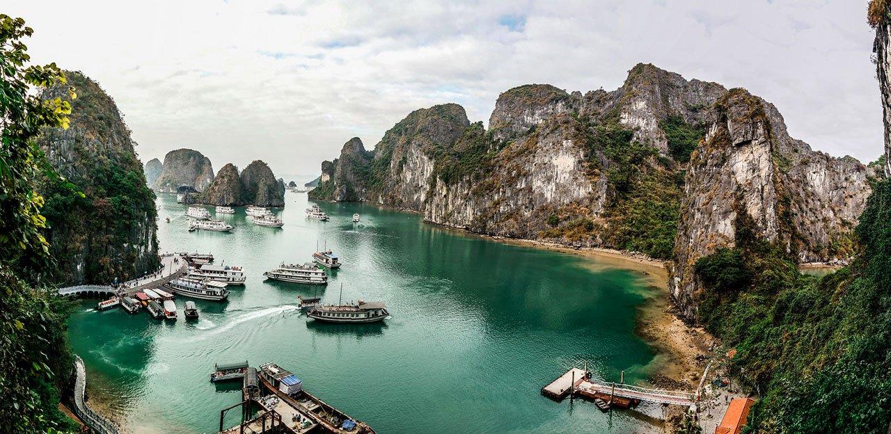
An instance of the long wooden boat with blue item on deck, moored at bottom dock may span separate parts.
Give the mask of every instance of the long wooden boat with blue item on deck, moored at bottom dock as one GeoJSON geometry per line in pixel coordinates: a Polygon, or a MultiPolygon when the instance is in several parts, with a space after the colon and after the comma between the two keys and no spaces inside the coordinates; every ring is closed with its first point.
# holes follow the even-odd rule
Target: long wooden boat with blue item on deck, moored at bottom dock
{"type": "Polygon", "coordinates": [[[257,379],[262,387],[281,399],[282,404],[290,407],[286,411],[292,408],[297,412],[292,417],[294,422],[304,427],[299,432],[375,434],[372,427],[364,422],[356,421],[322,399],[315,398],[303,389],[303,382],[296,375],[281,366],[271,362],[260,365],[257,379]]]}

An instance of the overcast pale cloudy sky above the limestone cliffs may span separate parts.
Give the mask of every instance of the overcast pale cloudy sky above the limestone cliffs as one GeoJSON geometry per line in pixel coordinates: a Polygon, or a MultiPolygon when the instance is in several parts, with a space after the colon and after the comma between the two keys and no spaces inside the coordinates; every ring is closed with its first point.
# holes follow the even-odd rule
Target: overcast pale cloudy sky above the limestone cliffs
{"type": "Polygon", "coordinates": [[[882,149],[866,0],[442,2],[5,0],[37,62],[93,77],[143,161],[192,148],[215,170],[264,159],[318,173],[371,149],[413,109],[457,102],[487,121],[527,83],[617,88],[650,62],[748,88],[814,149],[882,149]]]}

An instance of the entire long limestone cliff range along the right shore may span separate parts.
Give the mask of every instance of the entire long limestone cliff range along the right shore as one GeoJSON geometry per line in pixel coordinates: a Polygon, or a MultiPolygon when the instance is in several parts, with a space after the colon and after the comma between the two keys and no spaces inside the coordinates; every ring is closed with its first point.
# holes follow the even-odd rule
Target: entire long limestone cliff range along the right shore
{"type": "Polygon", "coordinates": [[[491,235],[676,256],[683,304],[695,293],[685,270],[732,242],[738,191],[764,233],[801,261],[849,254],[869,194],[863,165],[790,138],[771,104],[652,65],[632,68],[612,92],[513,88],[489,125],[454,105],[413,112],[371,152],[348,142],[323,164],[313,197],[402,207],[491,235]]]}

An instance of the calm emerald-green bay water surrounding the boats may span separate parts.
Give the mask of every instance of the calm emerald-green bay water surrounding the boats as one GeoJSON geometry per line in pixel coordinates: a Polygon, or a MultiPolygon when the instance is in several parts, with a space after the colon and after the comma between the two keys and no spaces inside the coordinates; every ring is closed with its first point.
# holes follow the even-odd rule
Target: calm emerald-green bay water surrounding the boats
{"type": "Polygon", "coordinates": [[[196,301],[195,323],[182,313],[170,324],[144,312],[97,312],[94,301],[71,317],[91,392],[132,430],[216,432],[220,410],[241,397],[239,386],[216,387],[208,374],[217,361],[245,359],[290,369],[307,390],[381,434],[629,432],[652,421],[539,394],[584,361],[609,379],[621,370],[630,382],[648,374],[654,354],[634,335],[634,317],[650,290],[636,272],[372,205],[322,203],[331,221],[321,222],[305,218],[305,194],[289,192],[286,203],[283,229],[252,225],[240,209],[217,216],[233,223],[231,234],[189,233],[184,205],[160,195],[161,250],[212,252],[217,264],[243,266],[247,285],[229,301],[196,301]],[[353,213],[361,223],[350,221],[353,213]],[[316,243],[344,262],[327,288],[264,280],[282,261],[309,261],[316,243]],[[325,325],[298,314],[298,294],[336,302],[341,284],[345,301],[385,301],[392,318],[325,325]]]}

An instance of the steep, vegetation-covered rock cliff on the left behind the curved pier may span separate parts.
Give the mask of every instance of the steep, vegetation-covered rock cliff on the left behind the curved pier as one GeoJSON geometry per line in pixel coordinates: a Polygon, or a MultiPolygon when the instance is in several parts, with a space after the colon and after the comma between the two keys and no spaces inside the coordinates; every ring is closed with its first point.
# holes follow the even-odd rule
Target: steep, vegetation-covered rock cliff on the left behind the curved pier
{"type": "MultiPolygon", "coordinates": [[[[59,259],[55,275],[65,285],[142,275],[159,263],[157,213],[130,130],[99,84],[79,72],[65,75],[78,94],[70,101],[70,127],[47,129],[39,140],[51,165],[76,186],[45,180],[41,188],[59,259]]],[[[59,87],[44,97],[67,95],[59,87]]]]}

